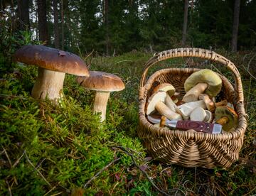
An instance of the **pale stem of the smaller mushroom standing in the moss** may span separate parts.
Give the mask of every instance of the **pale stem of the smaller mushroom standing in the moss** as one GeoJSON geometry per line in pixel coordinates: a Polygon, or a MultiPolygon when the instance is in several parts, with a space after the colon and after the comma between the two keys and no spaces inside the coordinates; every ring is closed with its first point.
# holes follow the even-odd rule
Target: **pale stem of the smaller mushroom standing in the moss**
{"type": "Polygon", "coordinates": [[[107,100],[110,97],[110,92],[97,91],[95,93],[95,102],[93,105],[93,113],[100,114],[100,122],[105,121],[106,119],[106,110],[107,110],[107,100]]]}

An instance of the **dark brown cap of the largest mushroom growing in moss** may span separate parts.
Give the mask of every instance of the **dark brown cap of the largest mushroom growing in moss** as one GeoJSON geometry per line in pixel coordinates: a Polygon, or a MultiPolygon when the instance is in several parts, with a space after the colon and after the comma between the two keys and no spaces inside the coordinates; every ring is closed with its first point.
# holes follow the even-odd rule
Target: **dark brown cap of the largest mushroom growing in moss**
{"type": "Polygon", "coordinates": [[[78,55],[44,45],[24,45],[16,51],[14,60],[56,72],[89,76],[85,62],[78,55]]]}

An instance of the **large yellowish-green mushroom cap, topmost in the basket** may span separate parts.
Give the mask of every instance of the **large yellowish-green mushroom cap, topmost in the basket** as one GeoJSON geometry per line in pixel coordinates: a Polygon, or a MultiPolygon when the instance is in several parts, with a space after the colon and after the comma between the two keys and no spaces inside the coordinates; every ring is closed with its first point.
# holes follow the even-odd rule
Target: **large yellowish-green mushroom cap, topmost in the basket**
{"type": "Polygon", "coordinates": [[[188,92],[198,83],[206,83],[208,87],[205,91],[210,97],[215,97],[221,90],[222,80],[212,70],[204,69],[198,72],[193,72],[185,81],[185,91],[188,92]]]}

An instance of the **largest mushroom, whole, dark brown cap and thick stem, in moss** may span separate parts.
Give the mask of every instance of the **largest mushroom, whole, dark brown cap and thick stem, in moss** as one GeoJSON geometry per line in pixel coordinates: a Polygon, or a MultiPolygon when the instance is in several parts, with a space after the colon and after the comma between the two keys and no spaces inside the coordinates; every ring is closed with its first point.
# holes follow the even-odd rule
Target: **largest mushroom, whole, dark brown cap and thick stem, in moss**
{"type": "Polygon", "coordinates": [[[43,45],[24,45],[14,54],[16,62],[38,66],[38,79],[32,89],[35,99],[58,101],[63,96],[65,73],[89,76],[85,62],[73,53],[43,45]]]}

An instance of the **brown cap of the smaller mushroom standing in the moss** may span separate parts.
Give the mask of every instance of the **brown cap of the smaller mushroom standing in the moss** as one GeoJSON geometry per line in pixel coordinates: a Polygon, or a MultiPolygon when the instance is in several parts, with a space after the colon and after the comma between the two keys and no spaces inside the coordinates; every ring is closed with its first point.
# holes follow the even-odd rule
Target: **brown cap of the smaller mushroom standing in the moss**
{"type": "Polygon", "coordinates": [[[90,77],[77,77],[77,82],[85,89],[114,92],[124,89],[124,82],[117,77],[106,72],[90,71],[90,77]]]}

